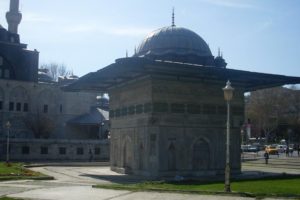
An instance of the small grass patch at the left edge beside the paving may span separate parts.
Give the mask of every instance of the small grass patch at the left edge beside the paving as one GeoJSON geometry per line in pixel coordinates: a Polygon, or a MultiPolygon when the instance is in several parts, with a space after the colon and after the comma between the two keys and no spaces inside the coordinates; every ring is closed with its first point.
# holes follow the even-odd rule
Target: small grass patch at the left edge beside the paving
{"type": "MultiPolygon", "coordinates": [[[[50,179],[44,174],[34,172],[23,167],[23,163],[0,162],[0,181],[18,179],[50,179]]],[[[1,199],[0,199],[1,200],[1,199]]]]}

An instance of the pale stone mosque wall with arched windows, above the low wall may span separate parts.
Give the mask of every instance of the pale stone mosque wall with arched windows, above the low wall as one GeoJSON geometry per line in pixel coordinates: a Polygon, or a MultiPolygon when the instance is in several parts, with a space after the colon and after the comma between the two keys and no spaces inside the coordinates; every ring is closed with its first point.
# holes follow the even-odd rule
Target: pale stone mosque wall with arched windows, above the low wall
{"type": "Polygon", "coordinates": [[[33,138],[24,119],[30,115],[43,115],[55,127],[50,138],[88,139],[88,136],[84,138],[76,131],[67,129],[66,123],[76,116],[89,113],[90,107],[96,104],[96,96],[96,93],[89,92],[65,92],[56,84],[0,79],[0,138],[4,137],[7,121],[11,123],[13,137],[33,138]]]}

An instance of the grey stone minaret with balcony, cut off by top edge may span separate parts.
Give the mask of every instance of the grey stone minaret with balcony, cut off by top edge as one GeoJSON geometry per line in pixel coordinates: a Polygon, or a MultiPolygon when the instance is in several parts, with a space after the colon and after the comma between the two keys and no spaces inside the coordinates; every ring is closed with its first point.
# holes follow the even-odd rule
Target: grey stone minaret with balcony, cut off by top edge
{"type": "Polygon", "coordinates": [[[18,25],[22,19],[22,14],[19,12],[19,0],[10,0],[9,11],[6,13],[8,31],[18,34],[18,25]]]}

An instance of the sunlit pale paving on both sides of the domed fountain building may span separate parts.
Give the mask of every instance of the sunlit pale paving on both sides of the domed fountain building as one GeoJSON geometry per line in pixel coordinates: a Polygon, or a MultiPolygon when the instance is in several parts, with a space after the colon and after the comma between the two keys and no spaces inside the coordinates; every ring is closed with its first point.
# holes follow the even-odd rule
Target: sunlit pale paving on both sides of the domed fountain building
{"type": "MultiPolygon", "coordinates": [[[[242,165],[243,175],[266,175],[275,173],[300,174],[300,157],[285,155],[271,156],[269,164],[264,163],[260,154],[244,155],[242,165]]],[[[120,175],[109,170],[108,166],[41,166],[33,168],[36,171],[53,176],[52,181],[7,181],[0,182],[0,196],[19,197],[23,199],[44,200],[235,200],[252,199],[219,195],[195,195],[159,192],[130,192],[92,188],[97,183],[131,183],[140,181],[140,177],[120,175]]]]}

